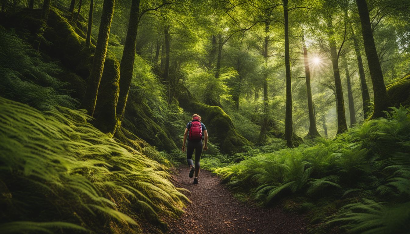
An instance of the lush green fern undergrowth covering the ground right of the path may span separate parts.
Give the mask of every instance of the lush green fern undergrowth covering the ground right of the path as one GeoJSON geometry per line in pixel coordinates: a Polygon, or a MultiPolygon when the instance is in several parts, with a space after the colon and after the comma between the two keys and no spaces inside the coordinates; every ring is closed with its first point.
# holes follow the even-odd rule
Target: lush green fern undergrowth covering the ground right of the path
{"type": "Polygon", "coordinates": [[[387,118],[364,122],[333,140],[249,150],[252,155],[242,154],[238,163],[221,157],[204,161],[230,188],[261,206],[299,197],[291,209],[307,212],[312,224],[324,224],[314,233],[334,226],[349,233],[404,233],[410,223],[409,113],[392,108],[387,118]]]}

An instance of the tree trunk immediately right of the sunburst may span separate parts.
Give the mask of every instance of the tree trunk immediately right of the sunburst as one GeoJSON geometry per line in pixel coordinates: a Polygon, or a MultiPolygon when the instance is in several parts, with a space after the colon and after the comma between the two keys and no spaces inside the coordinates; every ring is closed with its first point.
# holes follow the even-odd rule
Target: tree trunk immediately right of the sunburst
{"type": "Polygon", "coordinates": [[[330,56],[333,66],[333,75],[335,77],[335,91],[336,91],[336,109],[337,109],[337,134],[340,134],[347,130],[346,114],[344,112],[344,100],[343,100],[343,90],[342,81],[340,80],[339,71],[339,55],[336,50],[336,41],[333,39],[333,25],[332,20],[328,19],[328,27],[330,30],[329,45],[330,45],[330,56]]]}

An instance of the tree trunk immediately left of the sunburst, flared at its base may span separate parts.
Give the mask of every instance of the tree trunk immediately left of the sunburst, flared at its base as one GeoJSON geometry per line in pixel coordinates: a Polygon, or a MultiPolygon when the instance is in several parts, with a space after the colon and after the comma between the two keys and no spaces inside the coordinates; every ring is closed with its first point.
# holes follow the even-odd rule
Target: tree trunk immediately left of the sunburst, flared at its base
{"type": "Polygon", "coordinates": [[[309,60],[307,58],[307,49],[306,49],[304,35],[302,36],[302,43],[303,43],[303,61],[305,64],[305,77],[306,77],[306,89],[307,89],[307,107],[309,109],[309,132],[307,132],[306,136],[316,137],[316,136],[320,136],[320,134],[317,131],[316,117],[314,115],[314,109],[313,109],[312,89],[310,87],[310,68],[309,68],[309,60]]]}

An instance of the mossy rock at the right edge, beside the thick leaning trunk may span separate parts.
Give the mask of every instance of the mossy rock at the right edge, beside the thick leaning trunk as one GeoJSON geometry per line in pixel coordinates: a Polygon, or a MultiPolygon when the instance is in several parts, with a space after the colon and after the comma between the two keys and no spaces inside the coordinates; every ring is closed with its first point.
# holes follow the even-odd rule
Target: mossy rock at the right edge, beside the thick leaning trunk
{"type": "Polygon", "coordinates": [[[410,73],[405,75],[399,81],[387,86],[387,93],[395,107],[400,105],[410,105],[410,73]]]}

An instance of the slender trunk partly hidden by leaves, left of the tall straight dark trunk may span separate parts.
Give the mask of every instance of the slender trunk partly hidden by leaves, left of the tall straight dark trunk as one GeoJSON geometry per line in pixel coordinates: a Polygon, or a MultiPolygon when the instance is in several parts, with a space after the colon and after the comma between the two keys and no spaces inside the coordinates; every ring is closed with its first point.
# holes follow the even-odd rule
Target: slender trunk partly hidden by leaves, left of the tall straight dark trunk
{"type": "MultiPolygon", "coordinates": [[[[265,21],[265,33],[269,33],[269,21],[266,19],[265,21]]],[[[265,36],[264,44],[263,44],[263,57],[265,59],[265,63],[268,63],[268,43],[269,43],[269,35],[265,36]]],[[[255,94],[257,95],[257,94],[255,94]]],[[[268,73],[264,73],[264,81],[263,81],[263,120],[262,125],[260,128],[260,133],[256,144],[263,144],[266,141],[266,133],[268,128],[268,112],[269,112],[269,100],[268,100],[268,73]]]]}

